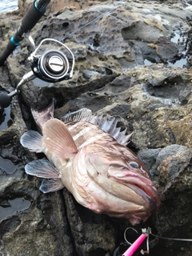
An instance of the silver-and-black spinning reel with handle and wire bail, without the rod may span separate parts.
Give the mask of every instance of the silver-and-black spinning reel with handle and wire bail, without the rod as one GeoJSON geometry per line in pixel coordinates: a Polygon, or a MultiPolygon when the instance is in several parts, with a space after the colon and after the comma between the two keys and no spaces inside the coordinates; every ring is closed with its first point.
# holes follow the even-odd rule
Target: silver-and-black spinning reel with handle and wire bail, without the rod
{"type": "Polygon", "coordinates": [[[22,77],[16,89],[10,94],[6,94],[5,91],[0,91],[0,107],[2,106],[2,108],[10,106],[11,98],[18,94],[21,86],[34,78],[54,83],[68,80],[73,76],[74,54],[65,44],[56,39],[46,38],[35,48],[33,38],[30,36],[28,36],[28,38],[30,45],[34,48],[34,52],[30,54],[28,58],[31,64],[31,71],[22,77]],[[50,42],[52,42],[52,45],[50,45],[50,42]],[[47,50],[50,46],[53,48],[47,50]],[[69,57],[67,57],[64,52],[69,57]],[[71,62],[69,62],[68,58],[70,58],[71,62]]]}

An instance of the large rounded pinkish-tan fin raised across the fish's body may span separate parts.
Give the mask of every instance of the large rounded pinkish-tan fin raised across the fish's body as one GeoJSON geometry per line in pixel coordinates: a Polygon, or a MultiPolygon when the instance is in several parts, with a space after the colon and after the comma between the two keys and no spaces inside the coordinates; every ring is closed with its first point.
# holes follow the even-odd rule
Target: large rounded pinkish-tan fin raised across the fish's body
{"type": "Polygon", "coordinates": [[[78,152],[74,139],[66,125],[58,119],[50,119],[42,127],[42,141],[47,150],[58,158],[70,158],[78,152]]]}

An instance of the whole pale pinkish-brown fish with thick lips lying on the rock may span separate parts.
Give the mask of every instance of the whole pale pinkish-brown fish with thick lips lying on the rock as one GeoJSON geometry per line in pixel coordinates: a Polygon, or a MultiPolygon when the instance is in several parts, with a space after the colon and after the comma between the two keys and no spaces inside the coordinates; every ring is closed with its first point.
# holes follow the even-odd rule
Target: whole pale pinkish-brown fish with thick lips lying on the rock
{"type": "Polygon", "coordinates": [[[26,174],[43,178],[43,193],[66,187],[75,200],[98,214],[145,222],[160,206],[160,195],[146,166],[127,144],[132,134],[110,115],[83,108],[54,118],[54,104],[34,119],[42,134],[27,130],[20,142],[47,159],[25,166],[26,174]]]}

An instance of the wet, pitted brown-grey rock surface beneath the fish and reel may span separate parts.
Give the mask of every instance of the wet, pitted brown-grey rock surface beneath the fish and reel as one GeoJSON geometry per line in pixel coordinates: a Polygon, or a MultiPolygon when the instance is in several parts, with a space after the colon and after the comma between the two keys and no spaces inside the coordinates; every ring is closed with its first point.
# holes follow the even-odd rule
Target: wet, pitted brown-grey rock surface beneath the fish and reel
{"type": "MultiPolygon", "coordinates": [[[[66,8],[47,12],[35,26],[31,34],[37,45],[44,38],[61,40],[78,30],[65,40],[74,53],[74,76],[55,84],[36,78],[22,86],[10,107],[0,110],[0,255],[109,256],[130,226],[128,220],[78,205],[65,189],[42,194],[41,179],[24,172],[27,162],[44,158],[19,142],[25,130],[37,129],[30,109],[42,110],[52,98],[56,118],[87,107],[118,118],[118,126],[127,127],[128,134],[134,131],[129,147],[150,170],[162,197],[158,213],[146,226],[154,234],[191,238],[190,4],[122,2],[78,30],[114,2],[94,2],[85,9],[67,2],[66,8]]],[[[16,12],[10,15],[2,15],[1,50],[20,23],[16,12]]],[[[29,55],[25,39],[0,70],[1,90],[14,90],[30,71],[29,55]]],[[[141,232],[141,226],[136,229],[141,232]]],[[[190,242],[150,239],[150,255],[186,256],[191,250],[190,242]]]]}

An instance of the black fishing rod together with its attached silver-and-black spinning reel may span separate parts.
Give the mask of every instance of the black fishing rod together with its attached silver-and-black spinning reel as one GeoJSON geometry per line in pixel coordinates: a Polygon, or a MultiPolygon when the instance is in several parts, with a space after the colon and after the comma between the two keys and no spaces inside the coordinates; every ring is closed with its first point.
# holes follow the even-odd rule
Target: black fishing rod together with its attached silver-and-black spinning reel
{"type": "Polygon", "coordinates": [[[0,91],[0,110],[10,106],[11,98],[15,94],[18,94],[21,86],[34,78],[40,78],[43,81],[51,83],[72,78],[74,70],[74,54],[70,49],[62,42],[52,38],[42,40],[36,48],[34,40],[30,36],[30,30],[32,30],[39,19],[42,18],[42,15],[45,14],[49,2],[50,0],[34,0],[30,5],[29,10],[27,10],[25,16],[22,18],[20,26],[14,31],[14,36],[10,38],[5,50],[0,54],[0,66],[3,66],[6,58],[9,57],[25,37],[29,39],[30,46],[32,46],[32,49],[34,50],[28,58],[31,64],[31,71],[22,77],[22,80],[18,83],[16,89],[10,92],[10,94],[7,94],[6,91],[0,91]],[[52,43],[51,46],[53,49],[50,49],[50,45],[46,45],[47,42],[52,43]],[[70,60],[72,60],[71,64],[65,53],[68,56],[70,55],[70,60]]]}

